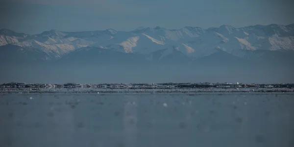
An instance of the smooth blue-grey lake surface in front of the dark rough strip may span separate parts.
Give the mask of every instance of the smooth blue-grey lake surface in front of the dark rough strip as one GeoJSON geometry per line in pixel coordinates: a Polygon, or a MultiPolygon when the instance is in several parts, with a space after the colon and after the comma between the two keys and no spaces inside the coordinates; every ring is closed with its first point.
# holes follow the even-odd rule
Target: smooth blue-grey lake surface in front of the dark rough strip
{"type": "Polygon", "coordinates": [[[0,147],[294,147],[294,93],[0,93],[0,147]]]}

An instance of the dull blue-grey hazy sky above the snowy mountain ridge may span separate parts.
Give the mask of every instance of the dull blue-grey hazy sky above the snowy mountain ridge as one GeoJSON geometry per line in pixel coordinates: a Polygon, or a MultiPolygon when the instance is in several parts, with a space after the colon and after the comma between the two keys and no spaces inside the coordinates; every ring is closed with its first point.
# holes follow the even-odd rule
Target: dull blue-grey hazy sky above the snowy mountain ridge
{"type": "Polygon", "coordinates": [[[50,29],[290,24],[293,7],[293,0],[1,0],[0,28],[37,34],[50,29]]]}

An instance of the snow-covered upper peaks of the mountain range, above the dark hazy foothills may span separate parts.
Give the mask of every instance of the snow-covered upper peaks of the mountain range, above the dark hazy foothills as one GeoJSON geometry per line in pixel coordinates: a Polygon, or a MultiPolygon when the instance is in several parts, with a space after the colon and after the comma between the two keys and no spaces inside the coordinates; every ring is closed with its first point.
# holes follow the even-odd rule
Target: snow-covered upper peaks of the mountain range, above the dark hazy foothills
{"type": "Polygon", "coordinates": [[[186,26],[172,30],[157,26],[129,32],[114,29],[84,32],[50,30],[37,35],[0,30],[0,53],[3,57],[33,52],[34,56],[42,57],[31,58],[52,60],[69,58],[73,56],[71,54],[93,48],[99,52],[140,54],[147,60],[154,60],[155,56],[156,60],[161,60],[174,56],[175,52],[179,56],[199,59],[220,51],[241,58],[257,58],[259,55],[254,51],[294,51],[294,24],[242,28],[222,25],[208,29],[186,26]]]}

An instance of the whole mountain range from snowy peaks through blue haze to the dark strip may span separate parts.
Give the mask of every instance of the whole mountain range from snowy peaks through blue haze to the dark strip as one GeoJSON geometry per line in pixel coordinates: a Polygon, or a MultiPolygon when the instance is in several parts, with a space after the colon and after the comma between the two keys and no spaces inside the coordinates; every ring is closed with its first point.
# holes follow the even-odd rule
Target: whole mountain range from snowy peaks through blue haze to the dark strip
{"type": "MultiPolygon", "coordinates": [[[[280,79],[275,82],[290,82],[294,71],[294,24],[243,28],[222,25],[209,29],[186,26],[176,30],[141,27],[130,32],[50,30],[37,35],[1,29],[0,63],[7,77],[0,81],[15,77],[23,80],[24,77],[16,76],[20,72],[58,79],[49,74],[54,71],[63,75],[66,72],[68,75],[64,77],[73,82],[70,81],[74,79],[73,73],[84,71],[88,77],[96,77],[94,73],[98,72],[97,77],[109,76],[113,81],[128,77],[141,82],[145,75],[158,80],[169,77],[157,83],[176,79],[181,80],[173,82],[219,82],[213,80],[222,76],[228,80],[259,76],[264,78],[260,81],[263,83],[268,76],[267,79],[280,79]],[[191,81],[199,74],[206,81],[191,81]]],[[[75,78],[80,77],[77,75],[75,78]]],[[[36,77],[32,79],[37,80],[36,77]]],[[[39,80],[46,79],[42,77],[39,80]]]]}

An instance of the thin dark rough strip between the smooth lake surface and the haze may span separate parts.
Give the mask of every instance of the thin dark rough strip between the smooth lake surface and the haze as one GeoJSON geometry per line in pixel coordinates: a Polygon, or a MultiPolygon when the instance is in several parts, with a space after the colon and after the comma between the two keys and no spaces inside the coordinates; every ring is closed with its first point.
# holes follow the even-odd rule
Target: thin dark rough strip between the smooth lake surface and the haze
{"type": "Polygon", "coordinates": [[[0,92],[293,92],[294,84],[163,83],[163,84],[0,84],[0,92]]]}

